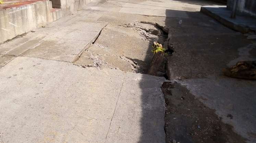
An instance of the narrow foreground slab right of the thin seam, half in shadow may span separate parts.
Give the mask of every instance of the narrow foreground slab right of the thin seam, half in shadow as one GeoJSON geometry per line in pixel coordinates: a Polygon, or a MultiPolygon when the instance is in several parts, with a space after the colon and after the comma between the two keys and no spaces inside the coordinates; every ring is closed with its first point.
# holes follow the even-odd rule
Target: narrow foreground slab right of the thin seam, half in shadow
{"type": "Polygon", "coordinates": [[[164,143],[162,119],[165,113],[165,102],[161,91],[164,78],[152,79],[147,75],[138,76],[127,73],[125,81],[127,82],[123,83],[107,142],[164,143]],[[137,88],[138,86],[140,88],[137,88]],[[141,122],[137,122],[138,120],[141,122]]]}

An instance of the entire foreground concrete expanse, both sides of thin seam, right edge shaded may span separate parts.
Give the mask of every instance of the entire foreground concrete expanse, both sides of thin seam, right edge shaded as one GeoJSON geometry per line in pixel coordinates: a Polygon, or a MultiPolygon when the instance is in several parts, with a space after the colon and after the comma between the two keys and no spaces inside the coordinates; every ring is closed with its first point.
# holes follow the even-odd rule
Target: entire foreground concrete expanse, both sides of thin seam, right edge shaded
{"type": "Polygon", "coordinates": [[[2,142],[165,142],[162,77],[17,57],[0,79],[2,142]]]}

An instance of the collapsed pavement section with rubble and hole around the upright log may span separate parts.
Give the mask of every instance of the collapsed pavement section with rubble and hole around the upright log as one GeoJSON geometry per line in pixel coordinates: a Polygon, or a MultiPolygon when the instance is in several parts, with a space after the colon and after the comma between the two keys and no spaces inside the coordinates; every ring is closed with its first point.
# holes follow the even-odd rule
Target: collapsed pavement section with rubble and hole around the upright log
{"type": "MultiPolygon", "coordinates": [[[[111,68],[111,69],[120,69],[127,72],[134,72],[134,73],[147,73],[148,66],[151,62],[151,58],[153,57],[153,53],[148,53],[154,41],[158,41],[159,43],[163,43],[164,46],[168,47],[167,35],[165,31],[167,31],[167,27],[161,27],[157,23],[153,22],[146,22],[146,21],[135,21],[130,22],[128,24],[122,25],[107,25],[104,27],[98,38],[93,42],[93,44],[86,49],[82,57],[75,61],[76,64],[80,64],[83,67],[92,66],[98,69],[102,69],[104,67],[111,68]],[[115,27],[123,28],[123,31],[114,29],[115,27]],[[114,29],[114,30],[113,30],[114,29]],[[126,32],[124,32],[126,31],[126,32]],[[128,31],[128,32],[127,32],[128,31]],[[111,33],[113,32],[113,34],[111,33]],[[120,40],[113,41],[113,43],[120,45],[120,50],[124,50],[122,47],[126,47],[127,45],[136,45],[133,47],[136,50],[137,47],[145,47],[146,49],[142,48],[138,51],[138,53],[145,53],[147,56],[151,55],[147,59],[136,59],[135,57],[140,57],[136,55],[137,53],[133,53],[135,56],[131,55],[129,51],[124,54],[120,54],[120,52],[115,49],[114,46],[110,46],[105,42],[109,40],[107,37],[113,38],[115,35],[120,35],[120,40]],[[135,37],[131,35],[136,35],[135,37]],[[128,38],[134,38],[134,41],[126,42],[128,38]],[[103,40],[105,40],[103,42],[103,40]],[[136,43],[135,43],[136,42],[136,43]],[[141,44],[140,44],[141,43],[141,44]],[[144,46],[145,45],[145,46],[144,46]]],[[[169,49],[169,48],[168,48],[169,49]]],[[[130,49],[127,49],[130,50],[130,49]]],[[[172,50],[167,50],[172,51],[172,50]]],[[[169,52],[171,55],[172,52],[169,52]]],[[[168,57],[167,55],[166,57],[168,57]]],[[[158,76],[165,76],[165,64],[166,59],[159,70],[158,76]]]]}

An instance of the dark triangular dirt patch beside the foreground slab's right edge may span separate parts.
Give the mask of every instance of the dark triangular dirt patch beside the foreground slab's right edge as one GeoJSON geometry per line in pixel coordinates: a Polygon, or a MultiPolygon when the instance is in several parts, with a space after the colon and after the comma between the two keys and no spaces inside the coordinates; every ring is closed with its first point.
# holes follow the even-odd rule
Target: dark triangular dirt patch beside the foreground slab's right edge
{"type": "Polygon", "coordinates": [[[164,82],[167,143],[245,143],[246,139],[221,122],[215,110],[175,82],[164,82]]]}

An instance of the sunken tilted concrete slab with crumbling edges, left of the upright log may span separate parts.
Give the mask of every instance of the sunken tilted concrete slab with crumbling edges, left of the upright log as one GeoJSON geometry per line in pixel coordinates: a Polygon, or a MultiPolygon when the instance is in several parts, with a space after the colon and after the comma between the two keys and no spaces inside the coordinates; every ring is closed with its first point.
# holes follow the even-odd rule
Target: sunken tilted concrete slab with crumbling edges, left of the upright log
{"type": "Polygon", "coordinates": [[[163,19],[156,20],[141,15],[134,15],[134,19],[129,19],[130,14],[111,13],[114,16],[106,14],[99,18],[111,22],[102,29],[93,46],[88,48],[75,63],[146,73],[154,55],[151,52],[153,41],[163,43],[167,37],[156,25],[156,21],[162,22],[163,19]],[[159,33],[158,36],[153,35],[153,30],[159,33]]]}

